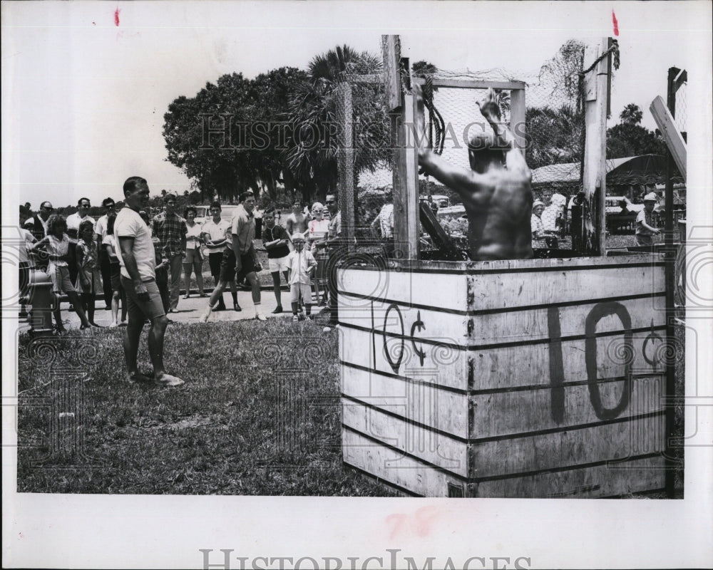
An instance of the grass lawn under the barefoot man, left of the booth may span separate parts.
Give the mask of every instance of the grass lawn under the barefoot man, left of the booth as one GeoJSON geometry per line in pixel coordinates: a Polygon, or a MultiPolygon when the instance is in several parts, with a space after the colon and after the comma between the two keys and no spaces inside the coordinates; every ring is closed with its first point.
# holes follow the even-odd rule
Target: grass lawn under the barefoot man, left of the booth
{"type": "Polygon", "coordinates": [[[19,492],[392,496],[342,464],[336,331],[173,323],[173,390],[125,380],[121,335],[73,331],[53,360],[21,336],[19,492]]]}

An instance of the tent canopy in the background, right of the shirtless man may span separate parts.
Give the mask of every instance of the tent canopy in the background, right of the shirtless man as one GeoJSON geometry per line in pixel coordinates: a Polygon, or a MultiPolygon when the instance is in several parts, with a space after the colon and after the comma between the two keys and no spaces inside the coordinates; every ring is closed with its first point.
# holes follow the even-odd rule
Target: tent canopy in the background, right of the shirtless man
{"type": "MultiPolygon", "coordinates": [[[[682,182],[683,177],[674,166],[673,179],[682,182]]],[[[607,186],[615,185],[655,185],[666,180],[666,157],[661,155],[640,155],[607,159],[607,186]]],[[[533,186],[578,185],[580,163],[568,162],[562,165],[548,165],[533,170],[533,186]]]]}

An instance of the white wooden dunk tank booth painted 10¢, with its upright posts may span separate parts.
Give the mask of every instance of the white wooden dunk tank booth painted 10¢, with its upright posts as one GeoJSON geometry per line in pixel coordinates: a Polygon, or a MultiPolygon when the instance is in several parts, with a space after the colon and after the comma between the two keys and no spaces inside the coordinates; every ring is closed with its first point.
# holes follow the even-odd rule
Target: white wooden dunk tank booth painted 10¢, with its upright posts
{"type": "MultiPolygon", "coordinates": [[[[352,254],[337,270],[344,462],[429,497],[670,489],[664,262],[592,252],[419,259],[416,152],[404,144],[416,107],[401,84],[408,78],[397,66],[398,36],[384,36],[382,48],[386,104],[396,110],[391,125],[401,143],[396,259],[362,263],[364,256],[352,254]]],[[[596,218],[603,218],[605,195],[606,59],[588,78],[588,132],[590,123],[597,129],[587,142],[592,205],[583,231],[592,250],[604,244],[596,218]]],[[[511,89],[511,121],[524,118],[524,85],[500,87],[511,89]]],[[[348,146],[340,171],[351,176],[348,146]]],[[[342,178],[342,189],[351,182],[342,178]]],[[[350,194],[340,192],[340,201],[352,244],[350,194]]]]}

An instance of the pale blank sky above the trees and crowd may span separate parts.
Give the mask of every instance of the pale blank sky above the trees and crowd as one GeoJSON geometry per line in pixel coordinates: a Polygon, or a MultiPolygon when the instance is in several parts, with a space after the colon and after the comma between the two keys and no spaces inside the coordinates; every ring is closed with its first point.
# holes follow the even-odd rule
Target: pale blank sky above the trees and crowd
{"type": "Polygon", "coordinates": [[[621,67],[610,125],[636,103],[654,128],[647,108],[665,96],[667,69],[710,53],[709,3],[4,2],[4,201],[120,199],[131,175],[156,194],[183,192],[163,115],[225,73],[306,68],[341,44],[378,54],[381,33],[399,33],[412,62],[531,73],[568,38],[613,36],[612,11],[621,67]]]}

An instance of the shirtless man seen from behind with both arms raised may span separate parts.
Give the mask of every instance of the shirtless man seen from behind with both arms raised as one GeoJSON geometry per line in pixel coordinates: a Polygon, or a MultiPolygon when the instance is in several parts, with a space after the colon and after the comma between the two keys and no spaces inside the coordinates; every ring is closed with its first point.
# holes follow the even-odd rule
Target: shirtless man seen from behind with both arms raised
{"type": "MultiPolygon", "coordinates": [[[[426,140],[424,100],[419,86],[416,97],[417,138],[426,140]]],[[[419,165],[463,199],[473,261],[530,259],[533,257],[530,169],[523,153],[515,147],[512,131],[500,122],[498,98],[492,89],[488,89],[478,107],[493,133],[480,133],[468,142],[471,170],[451,165],[426,147],[419,147],[419,165]]]]}

